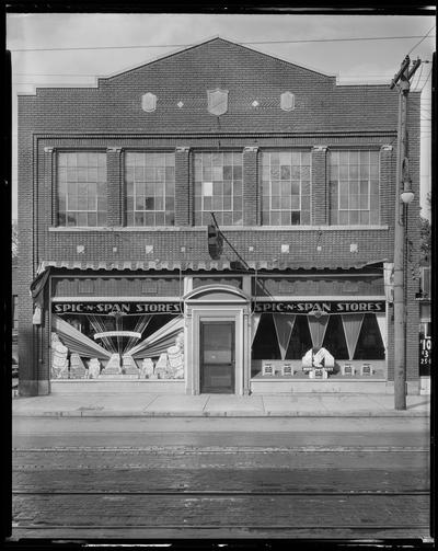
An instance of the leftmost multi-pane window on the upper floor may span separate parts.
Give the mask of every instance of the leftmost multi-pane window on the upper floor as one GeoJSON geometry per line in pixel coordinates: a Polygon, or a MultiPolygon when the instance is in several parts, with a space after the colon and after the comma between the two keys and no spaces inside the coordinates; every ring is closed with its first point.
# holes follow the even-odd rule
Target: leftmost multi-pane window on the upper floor
{"type": "Polygon", "coordinates": [[[58,153],[58,226],[106,226],[106,153],[58,153]]]}

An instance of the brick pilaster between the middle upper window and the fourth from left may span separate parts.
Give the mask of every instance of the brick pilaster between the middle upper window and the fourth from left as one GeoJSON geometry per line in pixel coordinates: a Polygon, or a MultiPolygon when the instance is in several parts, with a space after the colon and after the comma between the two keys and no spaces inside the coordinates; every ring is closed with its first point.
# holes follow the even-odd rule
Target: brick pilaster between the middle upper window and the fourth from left
{"type": "Polygon", "coordinates": [[[258,147],[243,149],[243,226],[257,226],[260,220],[258,147]]]}

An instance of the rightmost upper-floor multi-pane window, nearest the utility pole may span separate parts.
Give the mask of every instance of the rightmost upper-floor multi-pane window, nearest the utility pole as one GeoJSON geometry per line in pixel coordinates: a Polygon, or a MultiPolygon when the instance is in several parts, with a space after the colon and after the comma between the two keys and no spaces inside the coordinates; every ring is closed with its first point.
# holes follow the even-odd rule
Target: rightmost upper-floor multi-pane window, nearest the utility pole
{"type": "Polygon", "coordinates": [[[330,222],[379,223],[379,151],[330,152],[330,222]]]}

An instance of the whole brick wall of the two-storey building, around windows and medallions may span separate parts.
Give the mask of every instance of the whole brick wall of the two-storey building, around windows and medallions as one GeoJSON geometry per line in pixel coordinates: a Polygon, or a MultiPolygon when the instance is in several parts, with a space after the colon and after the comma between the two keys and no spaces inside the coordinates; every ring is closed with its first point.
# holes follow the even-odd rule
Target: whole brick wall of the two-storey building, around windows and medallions
{"type": "MultiPolygon", "coordinates": [[[[419,94],[410,95],[410,167],[416,198],[410,206],[411,252],[418,256],[419,94]]],[[[97,89],[41,89],[19,99],[20,370],[21,392],[44,391],[48,363],[35,369],[38,340],[32,326],[28,286],[43,260],[209,260],[205,228],[192,227],[192,151],[196,148],[381,147],[381,227],[327,227],[326,151],[312,151],[312,223],[318,227],[267,230],[260,223],[257,150],[244,150],[243,229],[227,231],[246,261],[287,261],[297,267],[349,266],[392,261],[394,176],[396,167],[397,93],[389,87],[336,87],[326,77],[285,61],[216,39],[175,56],[100,79],[97,89]],[[229,110],[216,117],[207,111],[207,90],[229,90],[229,110]],[[290,90],[296,108],[281,111],[279,96],[290,90]],[[141,95],[158,96],[157,111],[141,110],[141,95]],[[260,105],[251,104],[257,100],[260,105]],[[176,103],[182,101],[183,107],[176,103]],[[44,152],[45,147],[55,152],[44,152]],[[56,148],[165,148],[176,152],[175,228],[123,230],[123,150],[107,152],[108,228],[54,230],[56,148]],[[257,187],[258,184],[258,187],[257,187]],[[288,254],[280,245],[289,244],[288,254]],[[356,243],[358,251],[350,252],[356,243]],[[77,245],[84,245],[78,253],[77,245]],[[145,245],[153,245],[146,254],[145,245]],[[318,250],[321,245],[321,250],[318,250]],[[254,250],[249,251],[252,246],[254,250]],[[182,251],[185,248],[185,251],[182,251]],[[116,250],[115,250],[116,249],[116,250]]],[[[224,244],[223,259],[235,260],[224,244]]],[[[417,377],[418,283],[408,277],[408,378],[417,377]]],[[[43,330],[46,338],[47,326],[43,330]]],[[[391,331],[390,331],[391,335],[391,331]]],[[[38,337],[39,338],[39,337],[38,337]]],[[[43,347],[45,349],[45,347],[43,347]]],[[[389,376],[393,366],[389,342],[389,376]]],[[[43,355],[47,351],[43,352],[43,355]]]]}

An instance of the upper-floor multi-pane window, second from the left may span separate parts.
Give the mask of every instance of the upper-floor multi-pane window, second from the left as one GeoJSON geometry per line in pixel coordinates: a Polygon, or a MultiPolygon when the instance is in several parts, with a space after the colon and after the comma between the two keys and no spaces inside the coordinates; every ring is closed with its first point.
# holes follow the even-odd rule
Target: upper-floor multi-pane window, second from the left
{"type": "Polygon", "coordinates": [[[175,153],[127,152],[126,225],[175,223],[175,153]]]}

